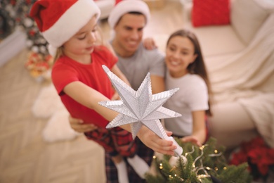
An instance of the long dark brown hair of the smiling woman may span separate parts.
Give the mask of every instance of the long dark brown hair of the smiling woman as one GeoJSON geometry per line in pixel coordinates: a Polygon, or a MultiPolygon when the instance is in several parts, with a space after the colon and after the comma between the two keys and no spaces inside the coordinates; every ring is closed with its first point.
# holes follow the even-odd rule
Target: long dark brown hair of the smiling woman
{"type": "Polygon", "coordinates": [[[202,77],[202,79],[204,79],[204,82],[207,84],[207,92],[209,94],[209,101],[208,101],[209,109],[206,111],[206,113],[207,113],[207,115],[212,115],[211,108],[210,108],[211,97],[212,97],[211,84],[209,81],[209,76],[207,74],[207,68],[204,65],[204,58],[202,56],[202,51],[201,51],[199,41],[193,32],[190,32],[189,30],[178,30],[178,31],[174,32],[173,34],[171,34],[171,36],[167,40],[167,44],[169,44],[169,41],[171,38],[176,37],[176,36],[187,37],[188,39],[190,39],[190,41],[194,45],[194,48],[195,48],[194,54],[197,54],[197,57],[195,58],[195,61],[193,63],[190,63],[190,65],[188,65],[187,70],[191,74],[200,75],[200,77],[202,77]]]}

